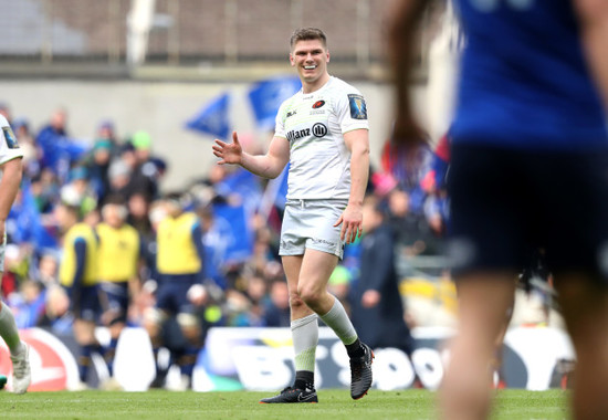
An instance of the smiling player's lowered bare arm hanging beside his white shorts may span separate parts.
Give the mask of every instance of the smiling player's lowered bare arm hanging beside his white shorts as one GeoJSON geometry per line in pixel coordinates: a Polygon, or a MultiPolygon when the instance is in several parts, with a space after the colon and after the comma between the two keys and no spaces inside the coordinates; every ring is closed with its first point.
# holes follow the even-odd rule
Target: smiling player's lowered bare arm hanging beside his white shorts
{"type": "Polygon", "coordinates": [[[342,223],[340,239],[353,243],[363,233],[363,199],[369,176],[369,133],[367,129],[348,132],[344,135],[344,143],[350,150],[350,197],[334,225],[342,223]]]}

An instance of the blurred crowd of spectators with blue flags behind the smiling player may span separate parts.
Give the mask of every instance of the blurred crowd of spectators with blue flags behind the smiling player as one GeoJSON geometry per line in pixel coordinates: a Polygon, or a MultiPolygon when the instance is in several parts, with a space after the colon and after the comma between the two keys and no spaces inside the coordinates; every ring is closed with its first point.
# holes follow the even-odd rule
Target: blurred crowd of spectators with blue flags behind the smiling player
{"type": "MultiPolygon", "coordinates": [[[[7,105],[0,112],[24,151],[22,187],[7,222],[2,282],[2,294],[19,327],[70,332],[71,303],[57,282],[62,241],[54,210],[60,202],[75,206],[95,225],[103,204],[117,197],[128,209],[127,223],[137,230],[143,244],[141,286],[132,296],[127,316],[127,325],[143,325],[155,303],[155,228],[166,216],[163,177],[171,170],[153,154],[154,139],[144,130],[122,138],[113,122],[103,120],[95,128],[94,141],[85,144],[71,137],[65,109],[55,111],[38,130],[25,118],[12,118],[7,105]]],[[[201,143],[200,153],[211,153],[210,145],[201,143]]],[[[387,141],[368,186],[368,195],[384,206],[403,258],[440,254],[447,218],[443,172],[437,165],[441,159],[422,150],[416,160],[412,174],[400,150],[387,141]]],[[[239,168],[213,166],[179,191],[180,203],[196,212],[201,225],[206,298],[199,313],[203,328],[290,325],[289,294],[277,255],[284,200],[266,187],[265,180],[239,168]],[[259,211],[264,206],[270,210],[259,211]]],[[[329,281],[345,306],[359,281],[359,243],[347,246],[329,281]]]]}

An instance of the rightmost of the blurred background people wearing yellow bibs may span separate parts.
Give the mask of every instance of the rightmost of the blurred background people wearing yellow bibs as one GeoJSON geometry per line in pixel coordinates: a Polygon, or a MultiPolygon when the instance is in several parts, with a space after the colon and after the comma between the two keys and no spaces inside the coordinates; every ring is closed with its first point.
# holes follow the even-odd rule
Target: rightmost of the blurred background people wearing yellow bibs
{"type": "Polygon", "coordinates": [[[168,195],[163,203],[167,216],[156,232],[156,306],[146,317],[157,361],[156,379],[150,386],[164,385],[168,367],[160,366],[158,356],[160,348],[167,347],[180,367],[179,388],[188,389],[202,347],[198,307],[207,301],[202,231],[197,214],[187,209],[190,203],[180,193],[168,195]]]}

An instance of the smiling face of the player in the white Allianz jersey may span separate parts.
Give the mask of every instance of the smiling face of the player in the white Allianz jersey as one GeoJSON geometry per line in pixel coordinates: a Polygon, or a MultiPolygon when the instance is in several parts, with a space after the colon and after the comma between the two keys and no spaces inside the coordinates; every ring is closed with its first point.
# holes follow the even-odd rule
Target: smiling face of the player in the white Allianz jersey
{"type": "Polygon", "coordinates": [[[329,80],[329,51],[321,40],[297,41],[290,54],[290,62],[297,70],[304,93],[318,90],[329,80]]]}

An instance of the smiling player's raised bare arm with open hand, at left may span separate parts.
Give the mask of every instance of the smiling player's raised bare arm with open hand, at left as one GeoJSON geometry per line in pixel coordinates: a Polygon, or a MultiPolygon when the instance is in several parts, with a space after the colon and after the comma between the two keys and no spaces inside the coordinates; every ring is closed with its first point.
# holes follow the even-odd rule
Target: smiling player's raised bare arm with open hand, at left
{"type": "Polygon", "coordinates": [[[290,144],[286,138],[273,137],[265,155],[250,155],[243,151],[237,132],[232,133],[232,143],[216,139],[213,155],[218,165],[240,165],[252,174],[263,178],[276,178],[290,160],[290,144]]]}

